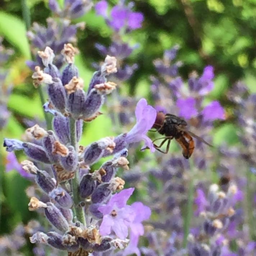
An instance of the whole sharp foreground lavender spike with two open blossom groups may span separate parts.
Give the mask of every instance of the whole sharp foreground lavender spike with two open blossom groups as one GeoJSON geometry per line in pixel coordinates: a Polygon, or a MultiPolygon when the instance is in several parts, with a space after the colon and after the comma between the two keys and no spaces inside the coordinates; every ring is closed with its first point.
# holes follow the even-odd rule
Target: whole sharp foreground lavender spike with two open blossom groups
{"type": "Polygon", "coordinates": [[[37,66],[32,75],[36,87],[47,85],[49,102],[44,109],[54,116],[54,131],[36,124],[26,131],[29,142],[4,139],[6,151],[23,150],[29,157],[22,162],[23,170],[35,179],[44,194],[40,199],[31,197],[29,210],[43,210],[54,228],[38,231],[30,240],[68,251],[69,255],[98,255],[115,249],[125,249],[122,255],[139,254],[138,239],[144,233],[142,221],[149,218],[151,211],[141,202],[127,205],[134,188],[123,189],[125,182],[116,177],[116,171],[119,167],[128,169],[129,144],[143,140],[154,151],[146,132],[155,122],[156,110],[141,99],[131,131],[102,138],[87,147],[78,146],[83,122],[97,118],[106,95],[115,90],[116,84],[107,81],[107,77],[117,71],[116,59],[106,56],[85,92],[74,65],[76,48],[65,44],[61,52],[67,62],[63,72],[53,64],[54,51],[46,47],[38,52],[45,68],[37,66]],[[92,172],[91,165],[111,155],[112,160],[92,172]]]}

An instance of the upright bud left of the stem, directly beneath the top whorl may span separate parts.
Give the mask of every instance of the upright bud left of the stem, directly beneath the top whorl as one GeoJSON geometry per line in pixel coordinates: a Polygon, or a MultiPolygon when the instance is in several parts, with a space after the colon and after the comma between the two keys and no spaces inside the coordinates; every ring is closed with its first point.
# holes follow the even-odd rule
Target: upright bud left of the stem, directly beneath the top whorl
{"type": "Polygon", "coordinates": [[[53,128],[61,143],[70,143],[69,118],[62,114],[56,114],[53,119],[53,128]]]}

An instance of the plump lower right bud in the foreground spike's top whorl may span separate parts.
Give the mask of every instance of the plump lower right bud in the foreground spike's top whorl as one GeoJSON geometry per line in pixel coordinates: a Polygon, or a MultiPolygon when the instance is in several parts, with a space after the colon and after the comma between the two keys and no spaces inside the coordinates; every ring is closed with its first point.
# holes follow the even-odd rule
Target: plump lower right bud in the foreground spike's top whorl
{"type": "Polygon", "coordinates": [[[104,103],[105,97],[99,94],[95,89],[92,89],[87,95],[83,104],[83,119],[95,116],[102,104],[104,103]]]}

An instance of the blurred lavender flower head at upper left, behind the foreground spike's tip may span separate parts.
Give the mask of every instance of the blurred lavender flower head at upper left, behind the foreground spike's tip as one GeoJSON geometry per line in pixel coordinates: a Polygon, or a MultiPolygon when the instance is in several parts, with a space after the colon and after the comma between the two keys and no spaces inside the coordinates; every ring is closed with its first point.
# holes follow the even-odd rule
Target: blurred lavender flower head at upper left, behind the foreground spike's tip
{"type": "Polygon", "coordinates": [[[55,52],[54,64],[60,68],[65,63],[61,50],[64,44],[69,42],[76,43],[77,29],[84,29],[85,23],[80,22],[77,24],[71,24],[71,20],[77,17],[81,17],[84,13],[92,7],[90,0],[76,0],[65,1],[64,9],[61,10],[59,4],[55,0],[49,1],[49,7],[53,14],[58,15],[60,18],[49,17],[47,27],[38,23],[33,23],[30,31],[27,32],[28,39],[31,42],[31,51],[35,57],[35,61],[27,61],[27,65],[32,70],[37,65],[43,67],[41,56],[38,56],[37,51],[43,50],[47,46],[55,52]]]}

